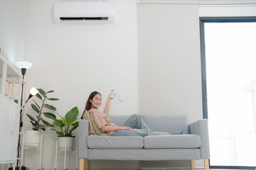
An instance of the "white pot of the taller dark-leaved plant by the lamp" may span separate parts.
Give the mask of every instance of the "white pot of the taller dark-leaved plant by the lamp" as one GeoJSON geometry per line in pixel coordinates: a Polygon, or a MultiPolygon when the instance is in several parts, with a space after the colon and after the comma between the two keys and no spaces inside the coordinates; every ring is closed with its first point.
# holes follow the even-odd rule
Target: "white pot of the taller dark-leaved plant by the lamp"
{"type": "Polygon", "coordinates": [[[40,147],[41,131],[26,130],[24,135],[24,147],[40,147]]]}

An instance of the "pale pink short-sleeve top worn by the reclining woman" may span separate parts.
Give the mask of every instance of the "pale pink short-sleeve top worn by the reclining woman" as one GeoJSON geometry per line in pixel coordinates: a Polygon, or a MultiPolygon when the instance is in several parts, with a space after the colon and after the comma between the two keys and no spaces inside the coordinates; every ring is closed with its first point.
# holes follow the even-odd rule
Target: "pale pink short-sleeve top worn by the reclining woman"
{"type": "MultiPolygon", "coordinates": [[[[88,111],[89,113],[93,112],[93,119],[95,121],[95,124],[97,125],[97,128],[102,128],[105,125],[112,125],[112,126],[117,126],[114,125],[114,123],[111,123],[110,118],[105,114],[100,112],[99,110],[92,108],[88,111]]],[[[114,131],[112,132],[106,132],[107,135],[112,135],[114,131]]]]}

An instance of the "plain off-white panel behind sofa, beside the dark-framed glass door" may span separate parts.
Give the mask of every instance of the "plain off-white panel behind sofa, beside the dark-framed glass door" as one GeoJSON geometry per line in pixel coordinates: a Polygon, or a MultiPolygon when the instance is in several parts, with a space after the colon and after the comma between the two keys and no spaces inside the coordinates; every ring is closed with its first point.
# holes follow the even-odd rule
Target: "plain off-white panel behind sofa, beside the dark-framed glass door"
{"type": "Polygon", "coordinates": [[[139,5],[139,113],[203,118],[198,13],[198,4],[139,5]]]}

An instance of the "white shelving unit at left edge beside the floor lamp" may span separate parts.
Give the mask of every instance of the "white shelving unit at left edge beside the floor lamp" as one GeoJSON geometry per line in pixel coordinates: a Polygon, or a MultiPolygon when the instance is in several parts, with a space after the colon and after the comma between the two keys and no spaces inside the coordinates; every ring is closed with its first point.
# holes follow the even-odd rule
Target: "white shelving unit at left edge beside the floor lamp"
{"type": "Polygon", "coordinates": [[[0,55],[0,164],[16,164],[22,77],[0,55]]]}

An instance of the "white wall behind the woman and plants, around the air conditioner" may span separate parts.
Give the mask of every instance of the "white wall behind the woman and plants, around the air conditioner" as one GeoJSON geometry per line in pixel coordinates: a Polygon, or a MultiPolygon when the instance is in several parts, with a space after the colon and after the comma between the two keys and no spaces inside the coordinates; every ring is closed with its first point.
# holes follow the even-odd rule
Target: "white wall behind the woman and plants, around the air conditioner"
{"type": "MultiPolygon", "coordinates": [[[[78,106],[80,115],[92,91],[102,94],[102,107],[111,89],[128,94],[127,101],[112,100],[110,114],[138,113],[137,2],[114,1],[113,24],[55,24],[54,0],[29,0],[26,35],[26,57],[33,67],[26,73],[28,86],[55,90],[52,104],[64,115],[78,106]]],[[[26,106],[26,113],[32,113],[26,106]]],[[[31,128],[28,118],[26,127],[31,128]]],[[[51,130],[45,133],[45,168],[53,169],[55,139],[51,130]]],[[[28,167],[36,168],[35,152],[28,153],[28,167]]],[[[63,158],[58,159],[63,167],[63,158]]],[[[70,166],[75,167],[75,157],[70,166]]]]}

